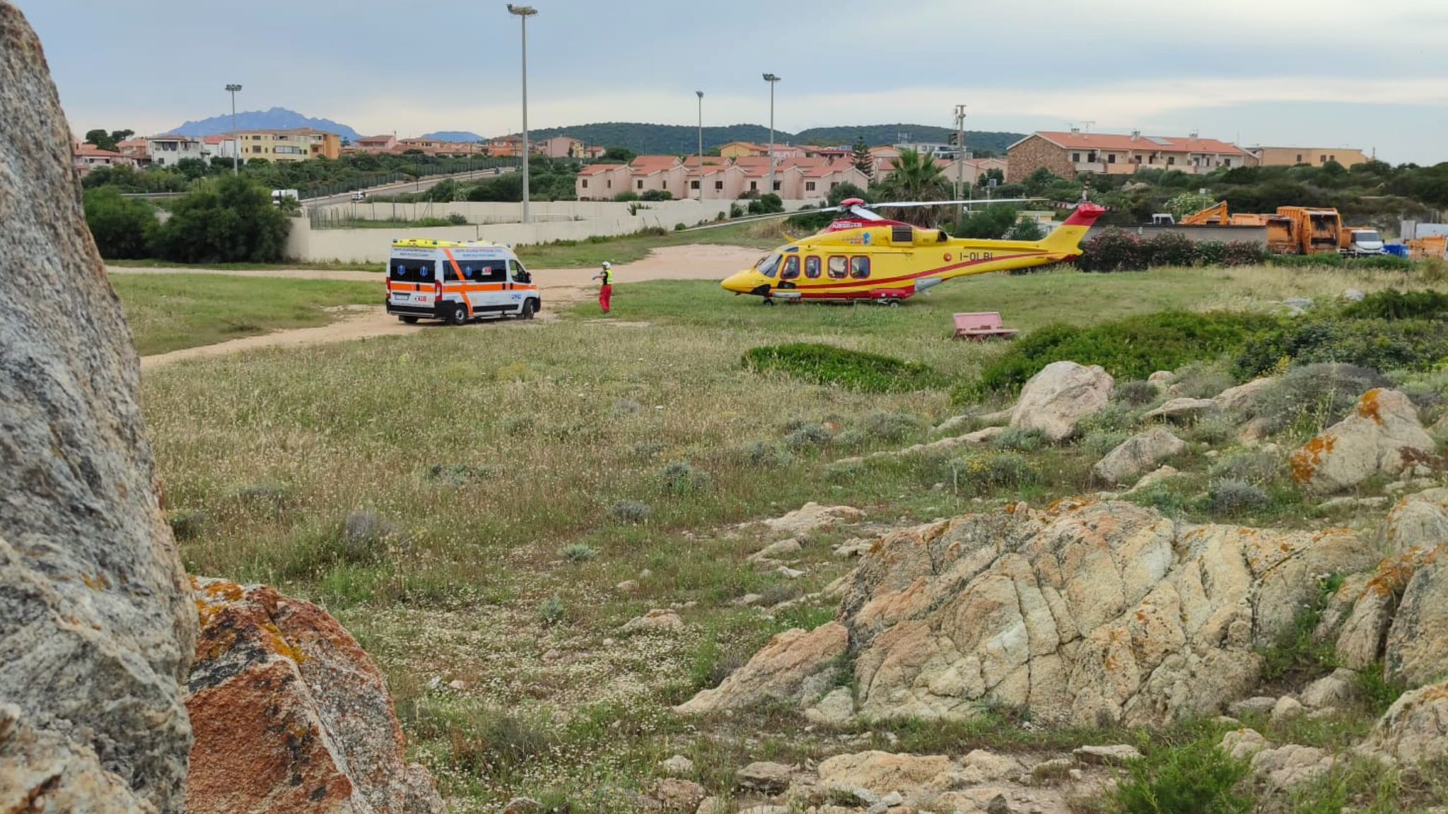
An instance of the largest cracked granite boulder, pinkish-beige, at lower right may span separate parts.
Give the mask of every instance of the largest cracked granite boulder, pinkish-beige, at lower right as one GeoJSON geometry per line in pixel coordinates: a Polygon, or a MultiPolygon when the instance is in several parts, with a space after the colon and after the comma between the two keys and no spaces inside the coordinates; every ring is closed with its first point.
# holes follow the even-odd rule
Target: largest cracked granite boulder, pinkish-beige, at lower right
{"type": "Polygon", "coordinates": [[[1044,724],[1157,726],[1248,695],[1257,649],[1318,579],[1376,559],[1345,530],[1183,530],[1129,503],[1060,501],[883,537],[846,576],[840,621],[867,718],[1003,704],[1044,724]]]}

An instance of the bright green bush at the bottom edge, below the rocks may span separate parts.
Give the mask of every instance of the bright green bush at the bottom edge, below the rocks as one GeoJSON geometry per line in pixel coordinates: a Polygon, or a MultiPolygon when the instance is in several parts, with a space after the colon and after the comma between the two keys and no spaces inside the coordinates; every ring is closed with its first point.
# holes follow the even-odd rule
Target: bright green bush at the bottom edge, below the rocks
{"type": "Polygon", "coordinates": [[[1237,791],[1245,760],[1218,749],[1215,734],[1183,744],[1160,744],[1127,765],[1112,792],[1122,814],[1245,814],[1251,797],[1237,791]]]}

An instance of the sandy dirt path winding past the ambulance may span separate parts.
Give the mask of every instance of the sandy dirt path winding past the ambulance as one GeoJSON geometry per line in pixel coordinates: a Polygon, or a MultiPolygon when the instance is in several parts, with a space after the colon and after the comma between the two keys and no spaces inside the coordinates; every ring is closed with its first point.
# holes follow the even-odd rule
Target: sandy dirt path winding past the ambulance
{"type": "MultiPolygon", "coordinates": [[[[641,261],[614,267],[614,281],[644,282],[649,280],[723,280],[730,274],[749,268],[759,259],[759,249],[743,246],[665,246],[654,249],[641,261]]],[[[284,280],[350,280],[382,284],[382,274],[372,271],[316,271],[316,269],[248,269],[224,271],[204,268],[109,268],[110,274],[214,274],[226,277],[264,277],[284,280]]],[[[534,268],[533,278],[539,282],[543,294],[543,311],[540,319],[556,319],[559,306],[576,303],[594,297],[597,282],[589,281],[598,269],[594,268],[534,268]]],[[[278,330],[259,336],[245,336],[220,342],[217,345],[201,345],[184,348],[169,353],[142,356],[140,368],[153,369],[161,365],[181,362],[185,359],[206,359],[240,353],[256,348],[297,348],[303,345],[321,345],[327,342],[345,342],[349,339],[366,339],[371,336],[397,336],[403,333],[417,333],[432,330],[432,324],[404,324],[395,317],[375,306],[352,306],[334,309],[340,319],[330,324],[317,327],[300,327],[292,330],[278,330]]],[[[498,320],[508,324],[520,324],[513,320],[498,320]]]]}

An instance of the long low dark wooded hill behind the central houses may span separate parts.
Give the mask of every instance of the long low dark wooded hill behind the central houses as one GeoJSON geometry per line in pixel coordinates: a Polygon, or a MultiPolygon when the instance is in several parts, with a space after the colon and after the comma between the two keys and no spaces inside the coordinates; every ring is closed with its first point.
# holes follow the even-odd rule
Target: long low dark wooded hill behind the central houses
{"type": "MultiPolygon", "coordinates": [[[[930,125],[862,125],[840,127],[812,127],[799,133],[775,130],[778,143],[795,145],[853,145],[860,136],[870,146],[889,145],[908,135],[912,142],[948,142],[950,127],[930,125]]],[[[604,122],[597,125],[575,125],[572,127],[546,127],[529,130],[539,140],[566,135],[588,145],[621,146],[640,154],[692,154],[698,151],[699,129],[688,125],[646,125],[640,122],[604,122]]],[[[1005,148],[1025,138],[1025,133],[996,133],[966,130],[966,148],[975,154],[1005,155],[1005,148]]],[[[705,152],[728,142],[767,142],[769,127],[762,125],[730,125],[727,127],[704,127],[705,152]]]]}

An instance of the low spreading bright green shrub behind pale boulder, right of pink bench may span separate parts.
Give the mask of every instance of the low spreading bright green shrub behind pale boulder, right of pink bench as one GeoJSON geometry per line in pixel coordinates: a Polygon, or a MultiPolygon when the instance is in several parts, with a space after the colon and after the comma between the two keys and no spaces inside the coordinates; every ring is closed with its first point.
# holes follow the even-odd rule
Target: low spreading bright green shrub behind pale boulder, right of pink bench
{"type": "Polygon", "coordinates": [[[960,395],[1014,393],[1051,362],[1070,359],[1100,365],[1116,378],[1141,379],[1160,369],[1239,353],[1276,317],[1247,313],[1161,311],[1106,322],[1093,327],[1051,324],[1032,330],[988,364],[980,379],[960,395]]]}

